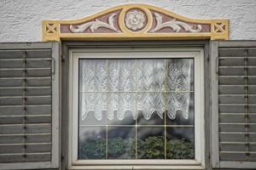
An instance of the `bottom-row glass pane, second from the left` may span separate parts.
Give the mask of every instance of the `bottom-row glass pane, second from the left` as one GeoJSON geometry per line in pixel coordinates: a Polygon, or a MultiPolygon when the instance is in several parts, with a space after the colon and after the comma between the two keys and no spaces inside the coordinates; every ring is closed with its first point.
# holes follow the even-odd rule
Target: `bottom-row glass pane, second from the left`
{"type": "Polygon", "coordinates": [[[135,159],[135,127],[108,128],[108,159],[135,159]]]}

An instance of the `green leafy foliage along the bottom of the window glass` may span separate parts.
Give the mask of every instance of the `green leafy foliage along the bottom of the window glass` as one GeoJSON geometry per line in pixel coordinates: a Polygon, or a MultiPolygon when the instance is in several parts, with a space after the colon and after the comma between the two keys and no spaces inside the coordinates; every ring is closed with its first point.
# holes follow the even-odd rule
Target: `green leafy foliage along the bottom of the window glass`
{"type": "MultiPolygon", "coordinates": [[[[137,139],[137,159],[164,159],[165,139],[149,136],[137,139]]],[[[135,159],[135,140],[108,139],[108,159],[135,159]]],[[[167,159],[194,159],[194,145],[185,139],[166,141],[167,159]]],[[[79,144],[79,159],[106,159],[106,139],[84,140],[79,144]]]]}

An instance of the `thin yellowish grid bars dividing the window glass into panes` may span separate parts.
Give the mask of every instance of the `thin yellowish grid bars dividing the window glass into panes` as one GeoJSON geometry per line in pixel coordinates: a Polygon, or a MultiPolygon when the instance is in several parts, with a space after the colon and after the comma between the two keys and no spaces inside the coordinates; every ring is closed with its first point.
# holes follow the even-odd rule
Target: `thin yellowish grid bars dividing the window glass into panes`
{"type": "MultiPolygon", "coordinates": [[[[79,90],[79,95],[80,94],[90,94],[90,93],[102,93],[102,94],[107,94],[107,111],[106,111],[106,115],[107,115],[107,118],[106,118],[106,121],[107,121],[107,124],[106,125],[93,125],[93,124],[90,124],[90,125],[81,125],[79,124],[79,127],[106,127],[106,159],[108,159],[108,129],[109,127],[135,127],[135,157],[134,159],[140,159],[137,157],[137,129],[139,127],[164,127],[164,158],[163,159],[167,159],[167,149],[166,149],[166,145],[167,145],[167,137],[166,137],[166,127],[193,127],[194,128],[194,124],[193,125],[176,125],[176,124],[167,124],[166,123],[166,118],[167,118],[167,94],[169,93],[180,93],[180,94],[183,94],[183,93],[194,93],[194,90],[169,90],[167,88],[167,65],[166,65],[166,60],[167,59],[164,59],[164,77],[165,77],[165,80],[164,80],[164,89],[163,90],[138,90],[137,89],[137,59],[135,59],[135,75],[133,75],[135,77],[135,89],[136,90],[127,90],[127,91],[121,91],[121,90],[118,90],[118,91],[113,91],[113,90],[110,90],[109,89],[109,65],[108,65],[108,60],[110,59],[106,59],[106,67],[107,67],[107,89],[105,91],[86,91],[86,90],[79,90]],[[136,113],[138,113],[138,109],[137,109],[137,96],[139,94],[163,94],[164,96],[164,115],[163,115],[163,119],[164,119],[164,124],[163,125],[146,125],[146,124],[139,124],[137,122],[137,118],[135,119],[135,123],[134,125],[125,125],[125,124],[111,124],[111,122],[109,122],[108,120],[108,116],[109,116],[109,103],[108,103],[108,99],[109,99],[109,94],[122,94],[122,93],[125,93],[125,94],[128,94],[128,93],[134,93],[135,94],[135,111],[136,113]]],[[[125,59],[124,59],[125,60],[125,59]]],[[[137,114],[137,116],[139,116],[137,114]]],[[[132,159],[132,158],[131,158],[132,159]]]]}

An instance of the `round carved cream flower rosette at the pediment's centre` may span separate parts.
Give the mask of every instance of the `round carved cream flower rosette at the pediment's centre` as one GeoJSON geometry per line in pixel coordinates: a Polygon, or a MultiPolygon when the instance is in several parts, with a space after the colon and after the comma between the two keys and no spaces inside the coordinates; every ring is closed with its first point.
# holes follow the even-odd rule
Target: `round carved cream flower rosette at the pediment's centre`
{"type": "Polygon", "coordinates": [[[146,16],[145,14],[137,9],[131,10],[126,14],[125,26],[131,31],[138,31],[145,26],[146,16]]]}

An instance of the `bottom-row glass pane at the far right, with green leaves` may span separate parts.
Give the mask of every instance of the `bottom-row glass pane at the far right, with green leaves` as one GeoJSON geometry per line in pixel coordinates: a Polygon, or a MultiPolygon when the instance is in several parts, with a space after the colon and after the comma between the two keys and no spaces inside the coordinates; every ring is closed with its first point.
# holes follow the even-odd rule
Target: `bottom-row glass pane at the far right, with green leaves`
{"type": "Polygon", "coordinates": [[[166,158],[195,159],[194,127],[166,127],[166,158]]]}

